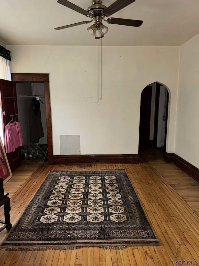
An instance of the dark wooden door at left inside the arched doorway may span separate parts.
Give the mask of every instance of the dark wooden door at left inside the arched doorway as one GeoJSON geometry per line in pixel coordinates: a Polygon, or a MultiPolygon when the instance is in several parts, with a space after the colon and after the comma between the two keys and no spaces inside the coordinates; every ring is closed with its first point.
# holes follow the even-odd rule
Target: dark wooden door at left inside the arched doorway
{"type": "Polygon", "coordinates": [[[150,147],[151,95],[151,86],[144,88],[141,93],[139,149],[150,147]]]}

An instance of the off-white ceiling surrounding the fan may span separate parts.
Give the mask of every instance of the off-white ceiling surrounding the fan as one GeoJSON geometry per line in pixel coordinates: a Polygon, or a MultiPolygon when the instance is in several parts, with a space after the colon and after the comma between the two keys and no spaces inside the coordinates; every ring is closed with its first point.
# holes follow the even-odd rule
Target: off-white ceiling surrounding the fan
{"type": "MultiPolygon", "coordinates": [[[[115,0],[104,0],[107,7],[115,0]]],[[[71,0],[87,9],[91,0],[71,0]]],[[[0,40],[13,45],[97,45],[90,24],[54,30],[87,18],[56,0],[2,0],[0,40]]],[[[103,45],[181,45],[199,33],[199,0],[136,0],[111,17],[143,20],[141,27],[108,24],[103,45]]],[[[104,22],[106,24],[106,22],[104,22]]]]}

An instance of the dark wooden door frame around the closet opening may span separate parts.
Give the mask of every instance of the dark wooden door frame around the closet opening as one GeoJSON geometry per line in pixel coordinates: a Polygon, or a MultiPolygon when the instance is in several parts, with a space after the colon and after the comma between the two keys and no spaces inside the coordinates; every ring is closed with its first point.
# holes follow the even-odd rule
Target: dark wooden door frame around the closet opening
{"type": "Polygon", "coordinates": [[[11,73],[11,77],[12,81],[14,82],[44,83],[47,142],[48,142],[48,163],[53,164],[53,136],[52,136],[49,74],[11,73]]]}

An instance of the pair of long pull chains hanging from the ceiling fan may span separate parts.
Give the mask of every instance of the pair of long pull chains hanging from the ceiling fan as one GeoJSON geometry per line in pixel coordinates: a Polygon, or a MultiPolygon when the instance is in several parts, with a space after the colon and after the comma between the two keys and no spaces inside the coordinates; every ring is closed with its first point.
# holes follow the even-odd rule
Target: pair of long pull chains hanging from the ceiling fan
{"type": "Polygon", "coordinates": [[[102,100],[102,39],[97,40],[98,48],[98,101],[102,100]]]}

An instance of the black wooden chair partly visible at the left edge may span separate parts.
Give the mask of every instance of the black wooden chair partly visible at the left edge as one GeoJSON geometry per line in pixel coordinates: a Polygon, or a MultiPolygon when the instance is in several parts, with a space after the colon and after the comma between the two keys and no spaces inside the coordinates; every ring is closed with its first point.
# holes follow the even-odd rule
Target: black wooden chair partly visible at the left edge
{"type": "Polygon", "coordinates": [[[4,205],[4,217],[5,221],[0,220],[0,223],[3,224],[0,226],[0,232],[6,228],[10,230],[12,225],[10,223],[10,199],[8,198],[9,193],[4,192],[3,189],[3,179],[0,178],[0,206],[4,205]]]}

